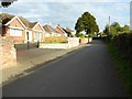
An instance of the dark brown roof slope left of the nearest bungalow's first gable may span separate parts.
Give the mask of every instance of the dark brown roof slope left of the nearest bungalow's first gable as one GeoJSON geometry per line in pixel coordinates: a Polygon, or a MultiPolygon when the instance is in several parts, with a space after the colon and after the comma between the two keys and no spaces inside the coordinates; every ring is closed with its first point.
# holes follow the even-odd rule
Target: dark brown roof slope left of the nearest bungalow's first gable
{"type": "Polygon", "coordinates": [[[0,23],[6,24],[8,23],[11,19],[13,19],[15,15],[8,14],[8,13],[0,13],[0,23]]]}

